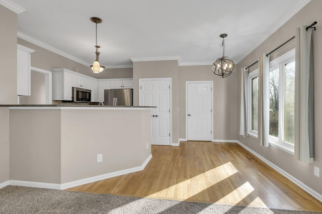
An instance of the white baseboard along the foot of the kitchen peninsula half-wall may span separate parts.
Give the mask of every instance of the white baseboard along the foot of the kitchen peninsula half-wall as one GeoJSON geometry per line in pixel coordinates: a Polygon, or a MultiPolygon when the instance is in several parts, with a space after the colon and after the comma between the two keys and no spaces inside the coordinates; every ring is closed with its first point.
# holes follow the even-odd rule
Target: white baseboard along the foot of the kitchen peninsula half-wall
{"type": "Polygon", "coordinates": [[[129,168],[129,169],[124,169],[124,170],[120,170],[120,171],[116,171],[116,172],[111,172],[111,173],[107,173],[107,174],[102,174],[102,175],[98,175],[98,176],[94,176],[94,177],[84,178],[81,180],[75,180],[75,181],[71,181],[68,183],[58,184],[58,183],[42,183],[42,182],[23,181],[23,180],[9,180],[9,181],[0,183],[0,188],[3,188],[8,185],[15,185],[15,186],[27,186],[27,187],[60,189],[60,190],[67,189],[67,188],[71,188],[74,186],[95,182],[98,180],[103,180],[103,179],[107,179],[107,178],[111,178],[111,177],[115,177],[115,176],[120,176],[123,174],[141,171],[145,168],[145,166],[151,160],[151,158],[152,158],[152,154],[150,154],[146,158],[146,160],[144,161],[144,163],[141,166],[137,166],[137,167],[133,167],[133,168],[129,168]]]}

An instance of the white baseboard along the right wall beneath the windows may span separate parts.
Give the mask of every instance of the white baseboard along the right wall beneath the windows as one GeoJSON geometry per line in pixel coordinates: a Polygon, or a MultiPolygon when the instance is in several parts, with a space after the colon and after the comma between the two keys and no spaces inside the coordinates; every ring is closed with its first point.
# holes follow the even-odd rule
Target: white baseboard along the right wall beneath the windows
{"type": "Polygon", "coordinates": [[[293,183],[298,185],[301,189],[303,189],[304,191],[306,191],[307,193],[309,193],[310,195],[315,197],[317,200],[322,202],[322,194],[318,193],[317,191],[315,191],[311,187],[307,186],[306,184],[304,184],[300,180],[296,179],[295,177],[293,177],[292,175],[290,175],[289,173],[287,173],[286,171],[284,171],[283,169],[281,169],[280,167],[278,167],[277,165],[275,165],[274,163],[272,163],[271,161],[269,161],[268,159],[266,159],[262,155],[260,155],[257,152],[253,151],[252,149],[250,149],[249,147],[247,147],[246,145],[244,145],[240,141],[238,141],[238,140],[236,140],[236,141],[240,146],[244,147],[246,150],[248,150],[249,152],[254,154],[256,157],[260,158],[262,161],[264,161],[266,164],[271,166],[273,169],[275,169],[276,171],[278,171],[279,173],[284,175],[286,178],[290,179],[293,183]]]}

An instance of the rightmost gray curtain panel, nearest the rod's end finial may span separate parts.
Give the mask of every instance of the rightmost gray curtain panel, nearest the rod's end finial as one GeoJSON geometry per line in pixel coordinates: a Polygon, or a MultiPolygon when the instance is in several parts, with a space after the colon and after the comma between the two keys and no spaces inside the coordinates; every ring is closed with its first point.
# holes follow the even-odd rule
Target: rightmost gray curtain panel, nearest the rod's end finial
{"type": "Polygon", "coordinates": [[[294,157],[314,160],[314,100],[312,29],[296,29],[295,39],[295,145],[294,157]]]}

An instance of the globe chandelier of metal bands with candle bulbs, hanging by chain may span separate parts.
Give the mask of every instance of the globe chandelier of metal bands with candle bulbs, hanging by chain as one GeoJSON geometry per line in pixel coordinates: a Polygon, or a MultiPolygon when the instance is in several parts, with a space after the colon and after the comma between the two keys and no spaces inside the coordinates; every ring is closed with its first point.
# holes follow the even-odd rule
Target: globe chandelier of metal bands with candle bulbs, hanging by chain
{"type": "Polygon", "coordinates": [[[227,34],[220,35],[220,38],[222,38],[220,45],[222,47],[222,57],[216,59],[212,66],[212,72],[222,78],[228,77],[235,69],[233,61],[229,57],[225,57],[225,37],[227,37],[227,34]]]}

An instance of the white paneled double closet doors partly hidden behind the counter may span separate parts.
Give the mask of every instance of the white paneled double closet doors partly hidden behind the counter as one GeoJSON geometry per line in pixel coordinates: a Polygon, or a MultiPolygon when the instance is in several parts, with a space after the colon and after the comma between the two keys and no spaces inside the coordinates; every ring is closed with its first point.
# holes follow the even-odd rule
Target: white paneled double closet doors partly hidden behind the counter
{"type": "Polygon", "coordinates": [[[151,111],[153,145],[170,145],[170,79],[140,79],[139,103],[151,111]]]}

